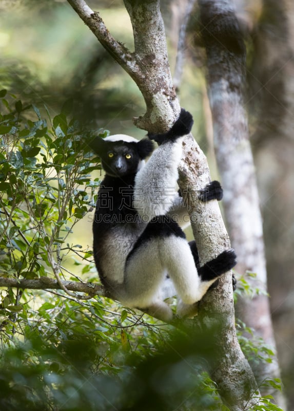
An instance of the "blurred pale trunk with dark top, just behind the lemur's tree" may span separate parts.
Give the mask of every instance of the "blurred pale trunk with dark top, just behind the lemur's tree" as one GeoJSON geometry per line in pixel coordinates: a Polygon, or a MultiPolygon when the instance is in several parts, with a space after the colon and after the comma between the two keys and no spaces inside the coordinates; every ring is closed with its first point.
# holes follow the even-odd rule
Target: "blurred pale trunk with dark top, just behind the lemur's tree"
{"type": "MultiPolygon", "coordinates": [[[[236,271],[256,273],[256,278],[247,276],[246,279],[253,288],[265,292],[262,218],[243,98],[246,50],[230,0],[201,0],[200,9],[215,153],[224,188],[225,217],[238,256],[236,271]]],[[[266,295],[239,299],[238,316],[275,349],[266,295]]],[[[277,357],[271,364],[254,364],[259,383],[266,378],[280,377],[277,357]]],[[[266,389],[262,393],[273,394],[271,391],[266,389]]],[[[274,394],[280,406],[284,406],[283,397],[276,391],[274,394]]]]}

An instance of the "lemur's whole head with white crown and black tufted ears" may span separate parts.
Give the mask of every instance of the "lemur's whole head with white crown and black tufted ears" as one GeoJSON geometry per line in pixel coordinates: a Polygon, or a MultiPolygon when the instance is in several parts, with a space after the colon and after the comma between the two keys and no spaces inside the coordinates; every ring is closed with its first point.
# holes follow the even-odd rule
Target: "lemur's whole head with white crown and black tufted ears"
{"type": "Polygon", "coordinates": [[[90,146],[101,157],[103,170],[112,177],[135,174],[145,164],[144,159],[153,151],[152,141],[139,141],[125,134],[104,139],[97,137],[90,146]]]}

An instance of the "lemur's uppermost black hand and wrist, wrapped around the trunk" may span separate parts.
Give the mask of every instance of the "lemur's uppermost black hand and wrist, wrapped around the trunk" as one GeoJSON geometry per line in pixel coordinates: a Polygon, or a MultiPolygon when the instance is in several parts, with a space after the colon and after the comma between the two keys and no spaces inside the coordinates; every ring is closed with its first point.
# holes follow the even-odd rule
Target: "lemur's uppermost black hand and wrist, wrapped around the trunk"
{"type": "Polygon", "coordinates": [[[184,108],[181,108],[181,113],[178,120],[175,121],[173,126],[168,130],[167,133],[163,134],[152,134],[148,133],[150,140],[156,141],[159,145],[166,143],[168,141],[175,141],[179,137],[189,134],[193,125],[193,117],[184,108]]]}

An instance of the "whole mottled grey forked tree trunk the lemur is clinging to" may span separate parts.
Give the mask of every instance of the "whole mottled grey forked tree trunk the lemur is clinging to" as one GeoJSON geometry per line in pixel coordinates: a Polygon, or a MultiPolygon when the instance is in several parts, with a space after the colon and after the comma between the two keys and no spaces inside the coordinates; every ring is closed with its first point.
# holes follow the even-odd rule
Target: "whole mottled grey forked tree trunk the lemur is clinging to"
{"type": "MultiPolygon", "coordinates": [[[[125,48],[122,52],[122,46],[113,40],[109,32],[105,32],[98,13],[91,13],[82,0],[68,2],[138,84],[147,111],[135,124],[149,132],[166,131],[178,117],[180,105],[170,76],[159,0],[124,1],[133,27],[134,53],[125,48]]],[[[204,204],[198,200],[197,191],[209,182],[210,175],[206,158],[191,136],[184,141],[184,155],[180,187],[190,205],[191,225],[203,264],[230,248],[229,238],[217,202],[204,204]]],[[[215,343],[217,359],[211,362],[210,369],[224,403],[231,411],[256,405],[259,402],[253,399],[257,392],[256,381],[240,349],[234,328],[231,273],[223,276],[219,287],[203,298],[199,322],[203,327],[209,328],[214,324],[223,327],[215,343]]]]}

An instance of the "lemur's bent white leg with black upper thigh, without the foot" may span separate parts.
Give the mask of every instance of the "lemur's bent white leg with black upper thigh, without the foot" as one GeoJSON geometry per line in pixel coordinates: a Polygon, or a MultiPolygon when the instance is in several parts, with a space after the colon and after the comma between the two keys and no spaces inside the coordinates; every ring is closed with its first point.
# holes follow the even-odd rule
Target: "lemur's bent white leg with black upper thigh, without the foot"
{"type": "Polygon", "coordinates": [[[199,299],[200,277],[185,234],[176,222],[160,216],[149,222],[127,258],[125,290],[132,306],[152,304],[166,272],[185,303],[199,299]]]}

